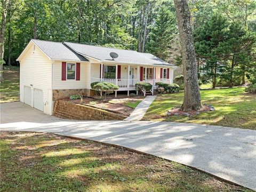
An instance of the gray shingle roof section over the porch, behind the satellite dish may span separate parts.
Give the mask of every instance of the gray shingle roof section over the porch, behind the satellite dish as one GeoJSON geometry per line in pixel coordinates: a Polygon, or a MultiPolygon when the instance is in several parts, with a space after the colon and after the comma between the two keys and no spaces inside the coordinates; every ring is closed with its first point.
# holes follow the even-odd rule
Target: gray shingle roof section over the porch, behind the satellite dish
{"type": "Polygon", "coordinates": [[[110,47],[86,45],[86,44],[79,44],[79,43],[64,42],[64,44],[68,45],[71,49],[73,49],[77,53],[87,55],[89,57],[99,59],[102,61],[112,60],[109,53],[115,52],[118,54],[118,58],[115,59],[115,61],[117,62],[119,61],[119,62],[127,62],[127,63],[173,66],[170,63],[167,63],[150,53],[140,53],[132,50],[121,50],[121,49],[114,49],[110,47]]]}

